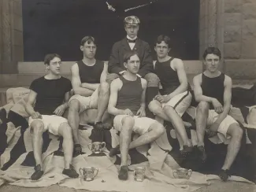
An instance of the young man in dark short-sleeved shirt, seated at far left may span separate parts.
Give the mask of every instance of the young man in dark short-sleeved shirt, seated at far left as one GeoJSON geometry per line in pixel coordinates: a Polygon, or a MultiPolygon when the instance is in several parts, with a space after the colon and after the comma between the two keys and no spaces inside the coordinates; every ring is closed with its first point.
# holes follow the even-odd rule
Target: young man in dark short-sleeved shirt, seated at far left
{"type": "Polygon", "coordinates": [[[68,120],[62,117],[68,108],[69,91],[72,89],[69,79],[60,75],[61,57],[58,54],[47,54],[44,60],[46,76],[35,79],[30,86],[28,102],[25,106],[30,115],[28,124],[32,132],[32,146],[35,157],[35,172],[32,180],[38,180],[43,175],[42,146],[43,132],[50,131],[63,137],[65,168],[63,174],[71,178],[78,177],[72,166],[72,130],[68,120]],[[35,103],[35,107],[33,107],[35,103]]]}

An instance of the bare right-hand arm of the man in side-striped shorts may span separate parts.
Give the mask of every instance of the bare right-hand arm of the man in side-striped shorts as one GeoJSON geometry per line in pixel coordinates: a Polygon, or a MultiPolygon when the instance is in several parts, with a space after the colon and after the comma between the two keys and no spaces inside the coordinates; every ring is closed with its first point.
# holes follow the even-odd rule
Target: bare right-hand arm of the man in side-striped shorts
{"type": "Polygon", "coordinates": [[[187,75],[185,72],[184,68],[184,63],[180,59],[176,59],[173,68],[176,70],[179,81],[180,81],[180,86],[176,88],[171,94],[169,94],[169,99],[173,98],[177,94],[181,94],[184,91],[187,90],[187,75]]]}

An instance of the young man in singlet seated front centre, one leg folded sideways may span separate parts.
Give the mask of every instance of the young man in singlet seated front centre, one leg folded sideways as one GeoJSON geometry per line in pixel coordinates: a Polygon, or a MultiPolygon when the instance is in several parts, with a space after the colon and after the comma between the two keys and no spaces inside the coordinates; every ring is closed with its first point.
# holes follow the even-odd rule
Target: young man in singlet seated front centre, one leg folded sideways
{"type": "Polygon", "coordinates": [[[128,150],[143,146],[159,138],[165,131],[158,121],[145,116],[147,81],[137,76],[139,57],[135,52],[124,54],[126,72],[110,85],[108,112],[114,117],[113,127],[121,131],[120,146],[109,152],[112,157],[121,153],[119,179],[128,179],[128,150]],[[131,142],[132,131],[140,136],[131,142]]]}

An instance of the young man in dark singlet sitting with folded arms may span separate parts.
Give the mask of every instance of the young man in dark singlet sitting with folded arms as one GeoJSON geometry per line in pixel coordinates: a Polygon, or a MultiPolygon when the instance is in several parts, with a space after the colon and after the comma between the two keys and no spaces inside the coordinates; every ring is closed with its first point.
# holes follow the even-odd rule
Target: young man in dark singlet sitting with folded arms
{"type": "Polygon", "coordinates": [[[80,50],[83,60],[72,65],[72,88],[75,95],[69,100],[69,124],[72,127],[75,143],[74,153],[82,153],[78,137],[80,113],[87,109],[98,109],[95,119],[95,129],[106,128],[103,124],[108,119],[106,108],[109,102],[109,83],[106,83],[107,65],[95,59],[95,39],[85,36],[81,40],[80,50]]]}

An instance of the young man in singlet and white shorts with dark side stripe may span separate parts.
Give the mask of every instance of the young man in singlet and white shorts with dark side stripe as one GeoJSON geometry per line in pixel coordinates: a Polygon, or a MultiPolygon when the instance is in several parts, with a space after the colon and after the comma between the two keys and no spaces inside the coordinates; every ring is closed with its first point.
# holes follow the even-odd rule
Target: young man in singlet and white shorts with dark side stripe
{"type": "Polygon", "coordinates": [[[168,55],[171,50],[170,38],[166,35],[158,36],[154,50],[158,55],[154,71],[160,79],[162,89],[150,102],[149,109],[157,117],[173,124],[182,149],[180,153],[186,156],[192,152],[193,147],[187,138],[181,116],[191,104],[192,95],[188,90],[184,64],[180,59],[168,55]]]}

